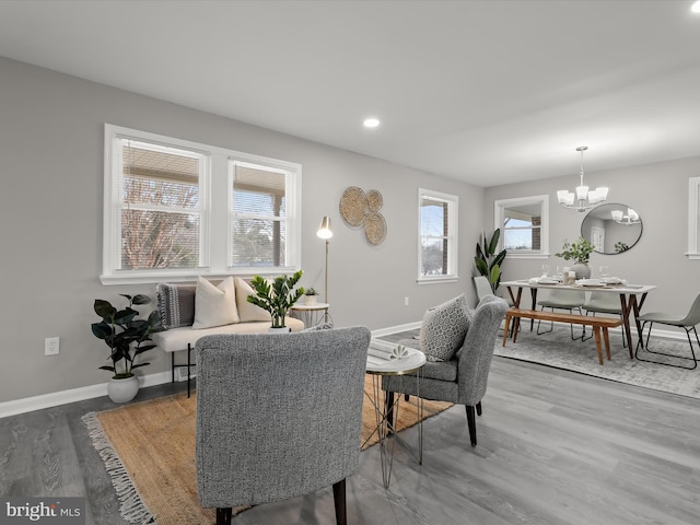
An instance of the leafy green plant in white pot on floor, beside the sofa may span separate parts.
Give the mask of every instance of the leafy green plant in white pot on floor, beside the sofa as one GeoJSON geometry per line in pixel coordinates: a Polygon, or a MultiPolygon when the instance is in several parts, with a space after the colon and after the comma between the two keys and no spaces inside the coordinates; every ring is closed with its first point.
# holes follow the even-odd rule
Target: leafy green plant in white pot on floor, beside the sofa
{"type": "Polygon", "coordinates": [[[149,304],[148,295],[120,294],[129,302],[124,310],[117,310],[102,299],[96,299],[95,313],[102,317],[98,323],[92,324],[92,332],[97,339],[105,341],[109,347],[109,360],[112,365],[100,366],[114,373],[107,385],[107,394],[115,402],[125,402],[133,399],[139,392],[139,380],[133,370],[150,363],[139,363],[138,357],[155,345],[150,343],[151,334],[161,331],[161,319],[156,311],[150,313],[148,318],[138,318],[139,312],[132,306],[149,304]]]}

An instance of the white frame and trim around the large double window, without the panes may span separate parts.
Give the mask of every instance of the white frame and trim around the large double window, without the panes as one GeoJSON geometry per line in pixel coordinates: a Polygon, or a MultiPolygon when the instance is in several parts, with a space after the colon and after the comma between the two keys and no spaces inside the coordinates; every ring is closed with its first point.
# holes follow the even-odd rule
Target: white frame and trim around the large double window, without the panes
{"type": "Polygon", "coordinates": [[[223,278],[231,275],[292,273],[301,268],[301,184],[302,166],[293,162],[269,159],[240,151],[191,142],[105,124],[104,210],[103,210],[103,284],[138,284],[161,281],[191,281],[198,276],[223,278]],[[200,174],[200,264],[197,268],[121,270],[121,177],[122,160],[115,144],[120,139],[155,143],[200,153],[206,159],[200,174]],[[285,264],[280,267],[230,266],[230,161],[246,162],[285,174],[287,244],[285,264]]]}

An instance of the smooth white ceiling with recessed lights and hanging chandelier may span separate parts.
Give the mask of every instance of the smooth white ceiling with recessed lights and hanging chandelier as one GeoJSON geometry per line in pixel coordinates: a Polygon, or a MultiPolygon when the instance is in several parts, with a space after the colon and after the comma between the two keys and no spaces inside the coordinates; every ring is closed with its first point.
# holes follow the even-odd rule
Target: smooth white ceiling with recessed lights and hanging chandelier
{"type": "Polygon", "coordinates": [[[690,3],[5,0],[0,56],[494,186],[700,155],[690,3]]]}

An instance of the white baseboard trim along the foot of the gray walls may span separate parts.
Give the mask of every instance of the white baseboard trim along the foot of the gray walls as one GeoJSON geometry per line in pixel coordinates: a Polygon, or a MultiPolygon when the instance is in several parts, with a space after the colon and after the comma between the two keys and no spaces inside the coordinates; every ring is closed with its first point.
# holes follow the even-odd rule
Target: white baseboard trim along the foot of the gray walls
{"type": "MultiPolygon", "coordinates": [[[[392,334],[398,334],[400,331],[415,330],[420,328],[421,322],[408,323],[406,325],[397,325],[388,328],[380,328],[372,330],[372,337],[384,337],[392,334]]],[[[615,328],[611,331],[619,331],[619,328],[615,328]]],[[[654,329],[654,337],[660,339],[676,339],[686,340],[686,335],[681,331],[670,330],[656,330],[654,329]]],[[[178,369],[184,370],[184,369],[178,369]]],[[[195,374],[192,374],[194,376],[195,374]]],[[[187,376],[185,375],[185,378],[187,376]]],[[[183,381],[176,377],[178,381],[183,381]]],[[[162,385],[171,382],[171,372],[158,372],[155,374],[149,374],[139,377],[141,387],[162,385]]],[[[0,418],[7,418],[9,416],[15,416],[18,413],[32,412],[34,410],[42,410],[44,408],[58,407],[60,405],[67,405],[69,402],[83,401],[85,399],[93,399],[95,397],[102,397],[107,395],[107,383],[101,383],[98,385],[83,386],[80,388],[71,388],[68,390],[59,390],[51,394],[43,394],[40,396],[25,397],[23,399],[14,399],[12,401],[0,402],[0,418]]]]}

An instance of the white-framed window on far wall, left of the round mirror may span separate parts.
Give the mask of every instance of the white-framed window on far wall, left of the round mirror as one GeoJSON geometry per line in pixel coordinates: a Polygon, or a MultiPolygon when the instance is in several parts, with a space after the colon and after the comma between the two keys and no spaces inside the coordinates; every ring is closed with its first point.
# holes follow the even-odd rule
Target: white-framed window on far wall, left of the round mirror
{"type": "Polygon", "coordinates": [[[494,202],[494,229],[501,229],[501,246],[508,257],[549,255],[549,197],[538,195],[494,202]]]}

